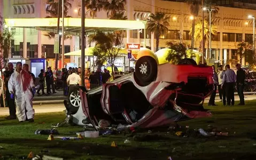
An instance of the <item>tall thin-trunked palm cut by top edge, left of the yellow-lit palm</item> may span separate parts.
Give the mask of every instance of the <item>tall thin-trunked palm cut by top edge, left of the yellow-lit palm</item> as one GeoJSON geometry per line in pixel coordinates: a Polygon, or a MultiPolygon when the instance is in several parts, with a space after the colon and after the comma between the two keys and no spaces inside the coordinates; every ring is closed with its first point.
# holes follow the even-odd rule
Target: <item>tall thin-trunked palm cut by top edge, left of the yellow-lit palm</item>
{"type": "Polygon", "coordinates": [[[191,49],[194,49],[196,17],[198,17],[198,14],[201,8],[201,0],[188,0],[188,5],[190,7],[190,13],[194,17],[192,20],[192,31],[191,31],[191,49]]]}

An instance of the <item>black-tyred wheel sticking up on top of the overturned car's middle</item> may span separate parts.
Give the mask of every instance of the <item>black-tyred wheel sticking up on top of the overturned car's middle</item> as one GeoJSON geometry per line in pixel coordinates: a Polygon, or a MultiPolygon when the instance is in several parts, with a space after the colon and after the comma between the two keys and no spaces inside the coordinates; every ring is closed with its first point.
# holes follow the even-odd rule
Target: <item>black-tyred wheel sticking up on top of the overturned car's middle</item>
{"type": "Polygon", "coordinates": [[[139,58],[135,65],[135,76],[142,86],[153,82],[157,78],[157,61],[150,56],[139,58]]]}

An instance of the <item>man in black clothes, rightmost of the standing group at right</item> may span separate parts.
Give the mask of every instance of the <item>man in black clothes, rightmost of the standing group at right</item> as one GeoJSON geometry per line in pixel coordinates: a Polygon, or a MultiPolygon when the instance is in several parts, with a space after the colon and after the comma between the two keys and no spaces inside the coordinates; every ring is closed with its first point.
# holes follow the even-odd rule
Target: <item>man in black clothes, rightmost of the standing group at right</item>
{"type": "Polygon", "coordinates": [[[236,65],[236,85],[237,93],[239,95],[240,103],[238,105],[244,105],[244,80],[246,77],[245,71],[241,68],[241,65],[236,65]]]}

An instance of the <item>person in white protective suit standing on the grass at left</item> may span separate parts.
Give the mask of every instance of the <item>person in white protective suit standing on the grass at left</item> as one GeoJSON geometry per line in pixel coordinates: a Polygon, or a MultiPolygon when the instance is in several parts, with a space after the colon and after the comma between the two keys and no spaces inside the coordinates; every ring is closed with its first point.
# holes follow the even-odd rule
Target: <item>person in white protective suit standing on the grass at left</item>
{"type": "Polygon", "coordinates": [[[21,62],[16,63],[16,69],[9,79],[8,89],[11,98],[15,97],[19,122],[26,121],[26,117],[29,122],[34,122],[35,110],[32,107],[32,99],[35,84],[32,76],[27,71],[21,70],[21,66],[21,62]]]}

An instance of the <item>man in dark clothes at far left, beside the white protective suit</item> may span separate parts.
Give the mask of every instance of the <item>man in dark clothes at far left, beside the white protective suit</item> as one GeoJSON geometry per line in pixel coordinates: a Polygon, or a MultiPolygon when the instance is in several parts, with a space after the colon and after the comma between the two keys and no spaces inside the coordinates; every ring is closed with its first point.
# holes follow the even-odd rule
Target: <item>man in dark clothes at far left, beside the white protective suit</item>
{"type": "Polygon", "coordinates": [[[11,94],[8,89],[8,81],[11,77],[12,73],[14,72],[13,64],[10,62],[8,63],[8,70],[4,71],[4,84],[5,84],[5,96],[6,96],[6,104],[9,107],[10,115],[5,117],[5,119],[16,119],[16,107],[14,99],[11,99],[11,94]]]}

